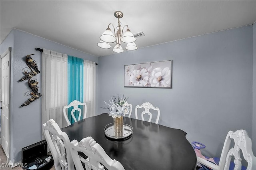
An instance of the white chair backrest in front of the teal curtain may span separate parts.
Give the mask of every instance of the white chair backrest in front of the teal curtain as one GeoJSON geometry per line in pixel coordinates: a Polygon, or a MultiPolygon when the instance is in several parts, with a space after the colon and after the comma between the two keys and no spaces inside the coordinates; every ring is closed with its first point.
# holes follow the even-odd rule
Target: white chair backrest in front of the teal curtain
{"type": "Polygon", "coordinates": [[[63,107],[63,114],[64,114],[64,117],[65,117],[65,120],[67,122],[68,125],[71,125],[71,122],[69,121],[68,119],[68,112],[66,110],[68,110],[68,108],[70,107],[73,107],[72,111],[71,111],[71,116],[72,118],[74,119],[75,122],[77,121],[80,121],[81,120],[81,115],[82,115],[82,111],[81,109],[78,107],[78,106],[83,106],[83,119],[86,118],[86,113],[87,113],[87,106],[86,106],[86,103],[81,103],[80,101],[77,101],[77,100],[74,100],[72,101],[69,105],[67,106],[64,106],[63,107]],[[78,115],[78,120],[76,120],[76,117],[74,115],[74,112],[75,111],[78,111],[79,112],[79,115],[78,115]]]}

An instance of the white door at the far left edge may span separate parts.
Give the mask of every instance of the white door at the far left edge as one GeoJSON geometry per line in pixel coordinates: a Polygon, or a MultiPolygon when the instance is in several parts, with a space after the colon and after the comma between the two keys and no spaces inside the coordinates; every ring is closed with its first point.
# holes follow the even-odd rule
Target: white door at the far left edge
{"type": "Polygon", "coordinates": [[[10,86],[10,47],[1,55],[1,144],[9,161],[9,86],[10,86]]]}

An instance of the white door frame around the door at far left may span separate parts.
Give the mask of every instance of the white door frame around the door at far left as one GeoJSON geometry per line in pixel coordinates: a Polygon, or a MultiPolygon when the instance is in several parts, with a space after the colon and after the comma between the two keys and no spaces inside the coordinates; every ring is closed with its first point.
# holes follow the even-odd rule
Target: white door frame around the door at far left
{"type": "MultiPolygon", "coordinates": [[[[11,63],[10,63],[10,61],[11,61],[11,51],[12,51],[12,47],[8,47],[8,49],[3,53],[3,54],[1,54],[0,55],[0,70],[2,69],[1,67],[2,67],[2,58],[4,58],[7,54],[9,54],[9,97],[8,97],[8,99],[9,99],[9,106],[8,106],[8,128],[9,128],[9,133],[8,133],[8,157],[7,157],[7,163],[9,163],[9,161],[10,161],[10,87],[11,87],[11,84],[10,84],[10,82],[11,82],[11,79],[10,79],[10,75],[11,75],[11,63]]],[[[2,82],[1,82],[1,80],[2,80],[2,71],[0,71],[0,77],[1,77],[1,79],[0,79],[0,86],[2,86],[2,82]]],[[[0,89],[2,89],[2,87],[0,88],[0,89]]],[[[2,93],[0,93],[0,101],[2,100],[2,93]]],[[[1,112],[1,122],[2,122],[2,112],[1,112]]],[[[2,124],[1,124],[1,127],[2,127],[2,124]]],[[[1,128],[1,130],[2,130],[2,128],[1,128]]],[[[1,144],[1,135],[0,135],[0,144],[1,144]]]]}

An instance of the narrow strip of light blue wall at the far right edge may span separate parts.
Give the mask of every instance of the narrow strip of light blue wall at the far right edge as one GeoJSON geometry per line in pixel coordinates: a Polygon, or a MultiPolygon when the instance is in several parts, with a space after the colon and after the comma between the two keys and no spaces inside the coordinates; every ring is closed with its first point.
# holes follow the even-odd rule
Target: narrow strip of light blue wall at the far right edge
{"type": "MultiPolygon", "coordinates": [[[[253,25],[253,112],[252,112],[252,146],[256,146],[256,24],[253,25]]],[[[256,155],[256,147],[254,147],[254,155],[256,155]]]]}

